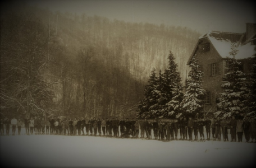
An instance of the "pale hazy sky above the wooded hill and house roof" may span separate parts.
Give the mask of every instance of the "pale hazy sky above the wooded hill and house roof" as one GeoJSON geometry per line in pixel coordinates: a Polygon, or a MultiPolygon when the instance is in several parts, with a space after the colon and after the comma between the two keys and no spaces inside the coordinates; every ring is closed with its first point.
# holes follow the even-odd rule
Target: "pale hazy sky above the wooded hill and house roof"
{"type": "Polygon", "coordinates": [[[49,7],[52,11],[80,15],[105,16],[111,20],[149,22],[208,30],[245,32],[245,23],[256,23],[255,5],[251,1],[227,0],[53,0],[27,1],[31,5],[49,7]]]}

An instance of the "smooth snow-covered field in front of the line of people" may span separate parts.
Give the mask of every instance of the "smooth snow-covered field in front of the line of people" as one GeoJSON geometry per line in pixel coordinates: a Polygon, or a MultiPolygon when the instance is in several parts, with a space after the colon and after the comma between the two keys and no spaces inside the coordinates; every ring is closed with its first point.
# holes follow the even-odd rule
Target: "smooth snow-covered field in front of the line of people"
{"type": "Polygon", "coordinates": [[[255,149],[256,143],[222,141],[162,142],[87,136],[2,136],[1,165],[248,167],[255,165],[255,149]]]}

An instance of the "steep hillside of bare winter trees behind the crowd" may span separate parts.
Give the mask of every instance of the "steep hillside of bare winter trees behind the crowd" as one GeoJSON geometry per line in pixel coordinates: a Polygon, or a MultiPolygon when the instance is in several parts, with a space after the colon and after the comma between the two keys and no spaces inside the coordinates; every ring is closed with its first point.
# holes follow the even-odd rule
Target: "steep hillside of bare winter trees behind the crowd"
{"type": "MultiPolygon", "coordinates": [[[[85,11],[86,12],[86,11],[85,11]]],[[[1,113],[135,116],[152,68],[184,83],[199,34],[185,27],[19,7],[1,13],[1,113]]]]}

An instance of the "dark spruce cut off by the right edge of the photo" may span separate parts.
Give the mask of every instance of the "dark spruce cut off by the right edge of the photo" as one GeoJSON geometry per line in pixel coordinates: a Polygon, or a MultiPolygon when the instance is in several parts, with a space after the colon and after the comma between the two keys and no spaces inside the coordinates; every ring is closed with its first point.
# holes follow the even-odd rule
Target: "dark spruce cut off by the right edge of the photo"
{"type": "Polygon", "coordinates": [[[246,100],[244,101],[244,111],[247,116],[256,119],[256,61],[254,61],[252,66],[248,82],[249,93],[246,95],[246,100]]]}

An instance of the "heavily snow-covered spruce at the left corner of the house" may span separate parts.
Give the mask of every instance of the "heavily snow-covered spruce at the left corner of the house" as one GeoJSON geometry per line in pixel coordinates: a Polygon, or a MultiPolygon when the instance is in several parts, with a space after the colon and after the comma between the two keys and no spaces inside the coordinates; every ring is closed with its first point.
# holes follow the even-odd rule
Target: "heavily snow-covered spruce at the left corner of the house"
{"type": "Polygon", "coordinates": [[[202,88],[202,76],[203,72],[199,71],[198,59],[194,56],[191,59],[189,65],[191,71],[189,72],[189,78],[186,81],[187,87],[184,98],[181,102],[183,115],[195,115],[203,109],[203,100],[205,96],[205,90],[202,88]]]}

